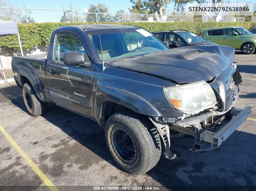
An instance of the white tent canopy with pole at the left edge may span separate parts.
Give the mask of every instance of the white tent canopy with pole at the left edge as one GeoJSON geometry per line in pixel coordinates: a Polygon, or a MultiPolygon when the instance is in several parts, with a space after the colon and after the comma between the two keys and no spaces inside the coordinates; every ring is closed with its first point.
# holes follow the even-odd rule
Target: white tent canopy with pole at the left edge
{"type": "MultiPolygon", "coordinates": [[[[19,35],[19,31],[18,31],[18,26],[16,22],[11,22],[11,21],[1,21],[0,20],[0,36],[3,35],[12,35],[12,34],[17,34],[18,35],[18,41],[20,44],[20,49],[21,49],[21,55],[23,56],[23,51],[22,51],[22,46],[21,46],[21,41],[20,41],[20,35],[19,35]]],[[[5,78],[5,72],[4,72],[4,68],[2,65],[2,61],[0,58],[0,63],[1,63],[1,67],[4,73],[4,78],[5,78]]],[[[6,78],[5,78],[5,83],[7,83],[6,78]]]]}

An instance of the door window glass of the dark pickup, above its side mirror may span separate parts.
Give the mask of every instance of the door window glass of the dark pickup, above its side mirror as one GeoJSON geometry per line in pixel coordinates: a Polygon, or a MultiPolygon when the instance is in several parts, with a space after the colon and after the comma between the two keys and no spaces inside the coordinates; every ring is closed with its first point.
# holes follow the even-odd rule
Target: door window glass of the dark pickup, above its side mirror
{"type": "Polygon", "coordinates": [[[59,33],[55,39],[54,61],[63,62],[63,56],[67,52],[79,51],[85,55],[85,48],[80,39],[72,33],[59,33]]]}

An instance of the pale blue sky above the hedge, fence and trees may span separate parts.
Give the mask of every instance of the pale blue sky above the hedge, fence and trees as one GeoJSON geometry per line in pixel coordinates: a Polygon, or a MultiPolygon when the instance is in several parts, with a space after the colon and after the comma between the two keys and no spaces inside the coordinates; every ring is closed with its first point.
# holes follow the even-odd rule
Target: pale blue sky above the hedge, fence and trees
{"type": "MultiPolygon", "coordinates": [[[[255,0],[243,0],[242,2],[254,2],[255,0]]],[[[90,0],[90,1],[81,1],[81,0],[9,0],[11,5],[14,7],[23,8],[23,3],[26,8],[47,8],[47,9],[62,9],[62,4],[64,4],[65,9],[71,9],[71,2],[73,3],[73,10],[78,12],[83,12],[84,8],[88,8],[89,4],[103,3],[109,7],[110,13],[116,13],[120,9],[124,9],[128,13],[128,8],[132,6],[130,0],[90,0]]],[[[232,0],[230,0],[232,2],[232,0]]],[[[174,9],[174,3],[168,5],[167,10],[168,14],[174,9]]],[[[24,12],[25,15],[25,12],[24,12]]],[[[35,19],[35,22],[59,22],[63,11],[43,11],[43,10],[31,10],[31,17],[35,19]]]]}

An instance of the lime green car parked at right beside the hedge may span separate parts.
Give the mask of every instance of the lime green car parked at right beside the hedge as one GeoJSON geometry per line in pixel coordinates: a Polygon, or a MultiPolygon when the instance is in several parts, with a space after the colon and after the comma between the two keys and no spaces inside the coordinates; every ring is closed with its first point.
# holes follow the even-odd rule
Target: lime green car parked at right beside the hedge
{"type": "Polygon", "coordinates": [[[252,54],[256,47],[256,34],[243,27],[221,27],[204,29],[204,40],[222,46],[231,46],[244,54],[252,54]]]}

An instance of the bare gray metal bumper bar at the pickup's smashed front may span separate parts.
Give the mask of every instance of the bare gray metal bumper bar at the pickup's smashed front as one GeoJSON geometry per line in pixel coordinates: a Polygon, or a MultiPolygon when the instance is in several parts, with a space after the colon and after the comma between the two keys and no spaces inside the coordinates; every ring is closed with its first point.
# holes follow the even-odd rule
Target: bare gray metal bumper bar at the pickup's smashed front
{"type": "Polygon", "coordinates": [[[218,148],[223,141],[225,141],[250,115],[251,107],[245,109],[233,108],[231,110],[231,116],[234,117],[228,123],[224,123],[224,126],[219,128],[217,132],[211,132],[205,130],[200,134],[200,141],[211,143],[211,148],[204,148],[191,151],[203,151],[205,149],[212,150],[218,148]]]}

